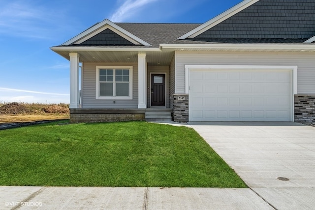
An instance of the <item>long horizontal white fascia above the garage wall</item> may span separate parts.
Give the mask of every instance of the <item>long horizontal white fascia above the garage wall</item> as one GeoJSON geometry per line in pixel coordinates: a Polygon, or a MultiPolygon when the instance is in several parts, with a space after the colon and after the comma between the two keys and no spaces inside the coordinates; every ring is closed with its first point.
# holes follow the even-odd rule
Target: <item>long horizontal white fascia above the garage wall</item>
{"type": "Polygon", "coordinates": [[[307,44],[160,44],[160,49],[222,49],[222,50],[294,50],[315,51],[315,45],[307,44]]]}

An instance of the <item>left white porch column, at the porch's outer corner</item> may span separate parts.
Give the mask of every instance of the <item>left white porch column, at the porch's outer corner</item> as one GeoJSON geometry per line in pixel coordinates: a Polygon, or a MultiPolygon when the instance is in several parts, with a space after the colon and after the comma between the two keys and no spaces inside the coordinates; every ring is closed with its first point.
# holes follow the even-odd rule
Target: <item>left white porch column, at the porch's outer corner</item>
{"type": "Polygon", "coordinates": [[[70,106],[79,108],[79,57],[78,53],[70,55],[70,106]]]}

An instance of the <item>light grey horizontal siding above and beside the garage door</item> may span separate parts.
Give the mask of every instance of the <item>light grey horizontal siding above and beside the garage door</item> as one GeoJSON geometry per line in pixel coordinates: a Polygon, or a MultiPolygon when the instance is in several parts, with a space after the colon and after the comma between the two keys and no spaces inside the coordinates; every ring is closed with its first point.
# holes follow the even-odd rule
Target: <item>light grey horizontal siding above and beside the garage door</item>
{"type": "Polygon", "coordinates": [[[176,52],[176,90],[185,93],[184,65],[298,66],[297,93],[315,94],[315,53],[176,52]]]}

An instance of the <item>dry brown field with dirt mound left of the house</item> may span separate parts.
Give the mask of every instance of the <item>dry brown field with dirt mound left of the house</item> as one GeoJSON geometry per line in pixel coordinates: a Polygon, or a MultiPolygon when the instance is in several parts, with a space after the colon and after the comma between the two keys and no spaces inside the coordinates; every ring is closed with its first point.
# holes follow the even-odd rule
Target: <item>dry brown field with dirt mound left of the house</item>
{"type": "Polygon", "coordinates": [[[0,103],[0,123],[57,119],[69,119],[69,105],[0,103]]]}

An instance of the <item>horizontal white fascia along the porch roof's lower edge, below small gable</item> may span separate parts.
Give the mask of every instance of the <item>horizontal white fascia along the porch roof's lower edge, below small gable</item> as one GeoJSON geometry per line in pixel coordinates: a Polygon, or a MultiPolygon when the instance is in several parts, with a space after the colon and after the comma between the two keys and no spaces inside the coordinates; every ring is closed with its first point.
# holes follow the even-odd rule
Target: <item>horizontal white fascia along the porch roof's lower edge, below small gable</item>
{"type": "Polygon", "coordinates": [[[120,52],[161,52],[159,48],[101,48],[101,47],[51,47],[52,51],[120,51],[120,52]]]}

